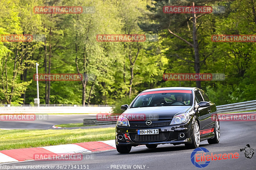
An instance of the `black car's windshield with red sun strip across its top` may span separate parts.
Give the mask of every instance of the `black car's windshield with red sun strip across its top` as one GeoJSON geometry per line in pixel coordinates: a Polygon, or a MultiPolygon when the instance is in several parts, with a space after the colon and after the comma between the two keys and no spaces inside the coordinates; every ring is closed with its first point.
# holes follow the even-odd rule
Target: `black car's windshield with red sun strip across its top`
{"type": "MultiPolygon", "coordinates": [[[[173,91],[173,90],[172,90],[173,91]]],[[[143,92],[130,108],[154,106],[192,106],[192,91],[186,92],[143,92]]]]}

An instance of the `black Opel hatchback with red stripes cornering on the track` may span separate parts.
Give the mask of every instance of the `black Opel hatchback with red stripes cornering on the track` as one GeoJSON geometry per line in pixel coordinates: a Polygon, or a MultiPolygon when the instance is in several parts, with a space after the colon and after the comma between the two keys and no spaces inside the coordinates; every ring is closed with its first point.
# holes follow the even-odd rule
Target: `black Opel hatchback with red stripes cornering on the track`
{"type": "Polygon", "coordinates": [[[128,153],[132,146],[185,144],[197,148],[200,141],[220,141],[215,104],[204,91],[189,87],[166,87],[141,92],[116,122],[116,150],[128,153]]]}

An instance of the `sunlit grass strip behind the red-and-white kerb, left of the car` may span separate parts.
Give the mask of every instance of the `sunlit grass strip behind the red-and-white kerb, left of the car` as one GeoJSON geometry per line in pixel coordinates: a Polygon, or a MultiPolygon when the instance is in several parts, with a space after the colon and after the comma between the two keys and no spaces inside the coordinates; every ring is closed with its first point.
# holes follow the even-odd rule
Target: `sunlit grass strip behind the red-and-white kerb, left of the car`
{"type": "Polygon", "coordinates": [[[115,139],[115,128],[0,130],[0,150],[115,139]]]}

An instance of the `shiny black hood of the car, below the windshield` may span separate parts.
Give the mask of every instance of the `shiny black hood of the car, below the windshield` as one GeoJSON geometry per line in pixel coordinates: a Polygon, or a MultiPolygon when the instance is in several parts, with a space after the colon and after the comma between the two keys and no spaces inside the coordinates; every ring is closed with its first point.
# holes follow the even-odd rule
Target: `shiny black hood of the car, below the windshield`
{"type": "MultiPolygon", "coordinates": [[[[128,120],[131,120],[131,115],[144,115],[146,119],[172,119],[177,114],[186,113],[191,106],[155,106],[155,107],[137,107],[129,108],[122,114],[128,120]],[[129,115],[129,116],[127,116],[129,115]]],[[[132,119],[133,120],[133,119],[132,119]]]]}

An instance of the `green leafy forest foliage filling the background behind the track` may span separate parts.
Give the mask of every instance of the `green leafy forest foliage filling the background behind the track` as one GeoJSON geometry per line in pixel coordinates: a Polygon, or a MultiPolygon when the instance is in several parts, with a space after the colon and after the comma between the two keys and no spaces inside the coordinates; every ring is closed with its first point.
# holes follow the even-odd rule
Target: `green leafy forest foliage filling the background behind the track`
{"type": "MultiPolygon", "coordinates": [[[[165,5],[186,6],[192,2],[226,7],[223,14],[200,17],[197,14],[200,72],[226,75],[225,81],[202,81],[202,89],[217,105],[255,100],[256,44],[212,42],[211,35],[255,34],[256,1],[7,0],[0,1],[0,34],[43,34],[46,41],[0,41],[0,103],[33,104],[35,63],[40,64],[39,73],[48,73],[50,47],[51,73],[79,71],[90,77],[86,83],[52,81],[50,104],[81,104],[84,90],[85,104],[115,105],[113,113],[122,113],[120,106],[130,104],[145,89],[180,86],[179,81],[164,81],[162,75],[194,73],[194,50],[173,36],[168,28],[193,43],[192,15],[165,14],[162,9],[165,5]],[[34,6],[44,4],[93,6],[96,11],[91,14],[33,13],[34,6]],[[158,41],[96,41],[97,34],[151,33],[159,35],[158,41]]],[[[42,104],[45,86],[44,81],[39,82],[42,104]]],[[[194,87],[196,82],[181,81],[181,86],[194,87]]]]}

